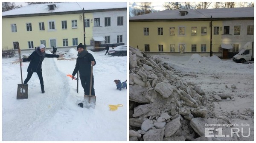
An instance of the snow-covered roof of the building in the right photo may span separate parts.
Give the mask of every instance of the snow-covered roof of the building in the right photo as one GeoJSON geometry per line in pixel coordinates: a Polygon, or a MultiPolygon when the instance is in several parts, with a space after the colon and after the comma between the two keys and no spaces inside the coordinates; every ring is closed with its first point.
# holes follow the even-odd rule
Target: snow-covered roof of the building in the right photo
{"type": "Polygon", "coordinates": [[[210,18],[211,16],[212,18],[254,17],[254,7],[164,10],[130,17],[129,20],[193,19],[210,18]],[[187,11],[188,13],[181,16],[180,11],[187,11]]]}

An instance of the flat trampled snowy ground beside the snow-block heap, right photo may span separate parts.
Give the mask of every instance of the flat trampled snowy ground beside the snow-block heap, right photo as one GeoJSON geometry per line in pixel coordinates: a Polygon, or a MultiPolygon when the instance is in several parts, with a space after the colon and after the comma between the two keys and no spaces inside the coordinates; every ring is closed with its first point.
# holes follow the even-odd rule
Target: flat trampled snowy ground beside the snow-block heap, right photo
{"type": "Polygon", "coordinates": [[[198,54],[152,57],[180,71],[183,79],[199,85],[208,97],[213,94],[231,94],[232,100],[213,101],[213,114],[227,118],[234,125],[233,128],[239,128],[239,140],[254,140],[254,62],[241,64],[231,59],[219,59],[215,55],[198,54]],[[249,136],[242,137],[241,134],[249,136]]]}

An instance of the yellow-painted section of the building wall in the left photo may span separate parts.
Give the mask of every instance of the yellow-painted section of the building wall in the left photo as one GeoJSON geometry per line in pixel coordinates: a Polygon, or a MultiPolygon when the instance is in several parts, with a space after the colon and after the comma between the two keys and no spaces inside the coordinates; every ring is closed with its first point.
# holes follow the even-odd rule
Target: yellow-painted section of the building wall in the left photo
{"type": "MultiPolygon", "coordinates": [[[[50,39],[56,40],[56,47],[63,47],[63,39],[68,39],[68,46],[73,46],[72,39],[78,38],[78,43],[84,43],[83,22],[79,19],[81,14],[65,14],[36,17],[3,18],[3,48],[13,48],[13,42],[19,42],[20,49],[29,49],[28,41],[33,41],[34,47],[46,41],[46,47],[50,48],[50,39]],[[67,21],[67,29],[62,29],[61,21],[67,21]],[[77,20],[77,28],[72,28],[71,21],[77,20]],[[55,30],[49,30],[49,21],[55,22],[55,30]],[[44,31],[39,30],[39,22],[44,22],[44,31]],[[26,30],[26,23],[32,24],[32,31],[26,30]],[[11,24],[17,25],[17,32],[12,32],[11,24]]],[[[92,14],[86,14],[92,17],[92,14]]],[[[86,28],[86,32],[92,35],[92,27],[86,28]]],[[[86,39],[90,42],[89,39],[86,39]]]]}

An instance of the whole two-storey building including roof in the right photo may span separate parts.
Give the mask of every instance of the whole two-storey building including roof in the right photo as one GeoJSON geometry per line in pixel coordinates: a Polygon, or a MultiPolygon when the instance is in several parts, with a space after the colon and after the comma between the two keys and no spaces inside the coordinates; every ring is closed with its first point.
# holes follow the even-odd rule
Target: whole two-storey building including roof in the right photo
{"type": "Polygon", "coordinates": [[[254,40],[250,32],[253,13],[253,8],[216,8],[165,10],[130,17],[129,45],[146,53],[213,53],[221,57],[223,51],[239,52],[254,40]]]}

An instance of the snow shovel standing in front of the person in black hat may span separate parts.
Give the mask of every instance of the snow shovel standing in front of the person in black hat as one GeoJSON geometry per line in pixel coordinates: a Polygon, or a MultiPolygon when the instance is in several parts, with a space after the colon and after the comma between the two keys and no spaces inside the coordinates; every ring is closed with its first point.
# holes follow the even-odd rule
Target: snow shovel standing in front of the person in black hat
{"type": "Polygon", "coordinates": [[[84,107],[95,109],[96,96],[91,95],[92,93],[92,81],[93,81],[93,65],[91,65],[91,75],[90,75],[90,93],[89,95],[84,95],[84,107]]]}

